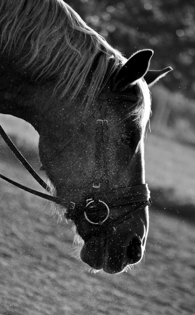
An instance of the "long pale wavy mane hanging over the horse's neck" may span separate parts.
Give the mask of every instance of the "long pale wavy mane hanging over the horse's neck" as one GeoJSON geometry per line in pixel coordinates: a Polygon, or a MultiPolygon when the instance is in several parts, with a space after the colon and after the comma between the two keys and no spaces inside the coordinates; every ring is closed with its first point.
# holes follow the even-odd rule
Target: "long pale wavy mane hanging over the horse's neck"
{"type": "Polygon", "coordinates": [[[126,61],[62,0],[1,0],[0,28],[3,51],[14,49],[20,67],[35,80],[56,78],[54,91],[60,89],[61,97],[71,90],[74,99],[97,61],[86,91],[92,100],[105,76],[126,61]],[[107,73],[110,58],[114,62],[107,73]]]}

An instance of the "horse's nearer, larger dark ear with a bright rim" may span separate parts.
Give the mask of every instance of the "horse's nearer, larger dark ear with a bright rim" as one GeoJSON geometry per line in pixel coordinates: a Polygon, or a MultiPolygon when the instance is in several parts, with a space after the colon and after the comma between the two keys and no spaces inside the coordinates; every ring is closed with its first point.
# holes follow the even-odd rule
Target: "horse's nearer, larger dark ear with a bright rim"
{"type": "Polygon", "coordinates": [[[133,54],[114,78],[113,90],[123,91],[142,78],[148,71],[152,55],[151,49],[140,50],[133,54]]]}

